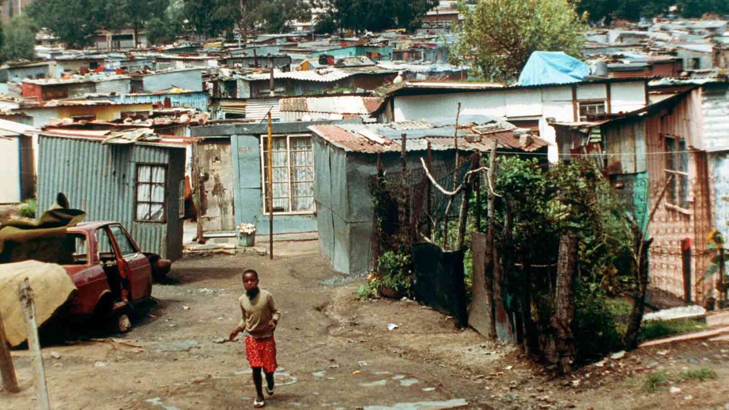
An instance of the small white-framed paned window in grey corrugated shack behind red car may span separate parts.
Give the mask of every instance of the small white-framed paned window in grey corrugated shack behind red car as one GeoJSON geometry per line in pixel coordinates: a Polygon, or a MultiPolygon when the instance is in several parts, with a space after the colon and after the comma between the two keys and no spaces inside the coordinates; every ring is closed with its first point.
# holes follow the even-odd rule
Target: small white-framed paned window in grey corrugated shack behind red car
{"type": "Polygon", "coordinates": [[[167,167],[138,164],[136,168],[136,220],[164,222],[167,167]]]}

